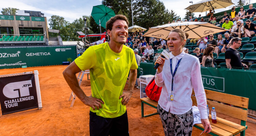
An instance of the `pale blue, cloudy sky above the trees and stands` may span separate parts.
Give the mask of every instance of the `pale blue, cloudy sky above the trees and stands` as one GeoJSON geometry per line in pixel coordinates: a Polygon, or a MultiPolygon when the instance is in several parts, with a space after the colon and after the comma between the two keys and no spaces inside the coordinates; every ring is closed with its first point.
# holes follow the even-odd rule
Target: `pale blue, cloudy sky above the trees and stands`
{"type": "MultiPolygon", "coordinates": [[[[173,10],[181,19],[184,18],[187,10],[186,7],[191,5],[189,1],[197,3],[201,0],[160,0],[165,4],[165,7],[170,11],[173,10]]],[[[239,0],[232,0],[237,4],[239,0]]],[[[256,0],[251,0],[250,3],[255,3],[256,0]]],[[[64,17],[67,21],[73,22],[75,19],[82,17],[83,15],[89,16],[93,9],[93,6],[100,5],[101,0],[4,0],[0,4],[0,10],[5,7],[18,8],[19,10],[27,11],[41,11],[48,19],[52,15],[58,15],[64,17]]],[[[232,6],[215,10],[215,12],[221,12],[231,9],[232,6]]],[[[205,16],[203,13],[195,13],[198,17],[199,14],[205,16]]],[[[49,23],[49,22],[48,22],[49,23]]],[[[49,27],[49,26],[48,26],[49,27]]],[[[155,27],[155,26],[152,26],[155,27]]]]}

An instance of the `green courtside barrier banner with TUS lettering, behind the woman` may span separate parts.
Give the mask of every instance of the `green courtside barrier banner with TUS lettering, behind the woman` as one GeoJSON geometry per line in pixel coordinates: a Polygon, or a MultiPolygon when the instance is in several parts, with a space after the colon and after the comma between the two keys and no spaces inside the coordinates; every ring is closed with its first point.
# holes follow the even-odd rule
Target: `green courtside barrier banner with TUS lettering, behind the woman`
{"type": "MultiPolygon", "coordinates": [[[[141,63],[141,75],[155,75],[153,67],[153,63],[141,63]]],[[[256,110],[256,70],[201,67],[201,74],[204,89],[249,98],[248,108],[256,110]]]]}

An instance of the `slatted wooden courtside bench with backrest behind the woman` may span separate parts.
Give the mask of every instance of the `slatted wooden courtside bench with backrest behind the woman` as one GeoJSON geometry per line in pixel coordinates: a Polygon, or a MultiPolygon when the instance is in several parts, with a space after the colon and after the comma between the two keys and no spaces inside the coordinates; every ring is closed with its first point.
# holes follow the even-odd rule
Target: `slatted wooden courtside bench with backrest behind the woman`
{"type": "MultiPolygon", "coordinates": [[[[245,130],[247,129],[247,126],[245,125],[247,121],[247,108],[249,103],[249,98],[240,97],[240,96],[234,96],[229,94],[224,94],[222,92],[216,92],[211,90],[205,90],[206,98],[215,100],[218,102],[228,103],[233,106],[221,104],[218,102],[207,100],[207,104],[210,108],[210,114],[212,107],[215,107],[215,110],[217,112],[217,123],[212,123],[211,115],[210,115],[210,123],[212,126],[211,135],[213,136],[234,136],[240,133],[240,136],[245,136],[245,130]],[[241,124],[237,124],[222,118],[218,117],[218,113],[222,113],[237,119],[241,120],[241,124]]],[[[195,95],[194,91],[192,95],[195,95]]],[[[191,96],[191,99],[193,101],[193,105],[197,106],[197,101],[195,96],[191,96]]],[[[153,101],[149,98],[141,98],[141,117],[148,117],[154,114],[149,114],[144,116],[144,107],[143,104],[150,105],[154,108],[157,108],[157,102],[153,101]]],[[[204,130],[202,124],[195,124],[194,127],[204,130]]]]}

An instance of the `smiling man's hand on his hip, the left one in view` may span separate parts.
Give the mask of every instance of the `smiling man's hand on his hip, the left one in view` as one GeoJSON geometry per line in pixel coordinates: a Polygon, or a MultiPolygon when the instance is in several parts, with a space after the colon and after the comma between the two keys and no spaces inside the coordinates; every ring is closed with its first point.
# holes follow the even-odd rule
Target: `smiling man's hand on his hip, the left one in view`
{"type": "Polygon", "coordinates": [[[97,109],[102,108],[101,103],[104,104],[103,101],[101,101],[98,98],[94,98],[92,96],[89,97],[85,97],[85,100],[83,101],[83,103],[87,106],[90,106],[93,108],[93,110],[95,110],[95,107],[97,107],[97,109]]]}

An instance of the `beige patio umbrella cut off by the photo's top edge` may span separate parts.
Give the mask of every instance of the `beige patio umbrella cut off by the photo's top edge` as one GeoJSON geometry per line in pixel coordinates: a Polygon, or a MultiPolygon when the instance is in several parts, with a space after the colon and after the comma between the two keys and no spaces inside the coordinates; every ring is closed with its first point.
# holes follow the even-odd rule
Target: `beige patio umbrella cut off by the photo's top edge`
{"type": "Polygon", "coordinates": [[[205,12],[212,9],[226,8],[234,3],[231,0],[202,0],[188,6],[185,10],[193,12],[205,12]]]}

